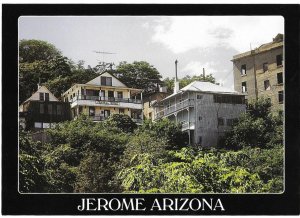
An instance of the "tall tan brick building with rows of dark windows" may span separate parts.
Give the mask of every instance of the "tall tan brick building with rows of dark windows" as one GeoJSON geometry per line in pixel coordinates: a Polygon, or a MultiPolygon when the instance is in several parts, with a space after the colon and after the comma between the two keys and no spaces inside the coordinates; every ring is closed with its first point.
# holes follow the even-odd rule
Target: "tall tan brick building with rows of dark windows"
{"type": "Polygon", "coordinates": [[[246,99],[268,98],[273,111],[283,110],[283,34],[272,42],[233,56],[234,89],[246,99]]]}

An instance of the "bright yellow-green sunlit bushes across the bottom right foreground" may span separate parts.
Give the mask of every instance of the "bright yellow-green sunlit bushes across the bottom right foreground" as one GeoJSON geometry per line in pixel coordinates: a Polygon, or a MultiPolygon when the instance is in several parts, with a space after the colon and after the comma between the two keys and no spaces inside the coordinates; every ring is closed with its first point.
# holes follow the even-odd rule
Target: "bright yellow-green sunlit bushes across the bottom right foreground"
{"type": "Polygon", "coordinates": [[[282,148],[173,152],[173,161],[139,154],[119,173],[125,192],[262,193],[283,190],[282,148]],[[266,159],[265,155],[269,155],[266,159]],[[262,163],[262,160],[265,161],[262,163]],[[271,169],[273,168],[273,170],[271,169]]]}

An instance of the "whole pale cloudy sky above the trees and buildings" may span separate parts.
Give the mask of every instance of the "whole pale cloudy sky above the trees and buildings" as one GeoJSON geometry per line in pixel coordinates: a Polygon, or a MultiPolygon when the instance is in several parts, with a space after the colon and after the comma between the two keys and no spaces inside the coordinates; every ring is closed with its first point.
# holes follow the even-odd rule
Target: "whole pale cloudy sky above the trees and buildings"
{"type": "Polygon", "coordinates": [[[284,33],[281,16],[22,16],[19,40],[45,40],[75,63],[147,61],[163,76],[213,74],[233,89],[233,55],[284,33]],[[95,51],[113,54],[99,54],[95,51]]]}

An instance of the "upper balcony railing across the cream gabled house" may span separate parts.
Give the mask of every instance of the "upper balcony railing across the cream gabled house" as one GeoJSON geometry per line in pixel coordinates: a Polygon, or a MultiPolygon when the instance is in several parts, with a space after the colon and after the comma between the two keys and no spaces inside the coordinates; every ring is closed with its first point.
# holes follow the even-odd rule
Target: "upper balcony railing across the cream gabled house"
{"type": "Polygon", "coordinates": [[[90,95],[79,95],[71,99],[71,103],[76,100],[92,100],[97,102],[125,102],[125,103],[134,103],[141,104],[140,99],[133,98],[115,98],[115,97],[100,97],[100,96],[90,96],[90,95]]]}

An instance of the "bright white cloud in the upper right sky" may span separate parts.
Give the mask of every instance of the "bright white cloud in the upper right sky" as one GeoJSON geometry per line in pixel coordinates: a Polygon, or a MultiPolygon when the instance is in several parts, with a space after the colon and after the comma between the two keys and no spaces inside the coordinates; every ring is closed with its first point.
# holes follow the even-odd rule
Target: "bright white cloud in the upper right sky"
{"type": "Polygon", "coordinates": [[[228,46],[245,52],[283,33],[280,16],[176,16],[152,23],[152,40],[174,53],[195,48],[228,46]]]}

